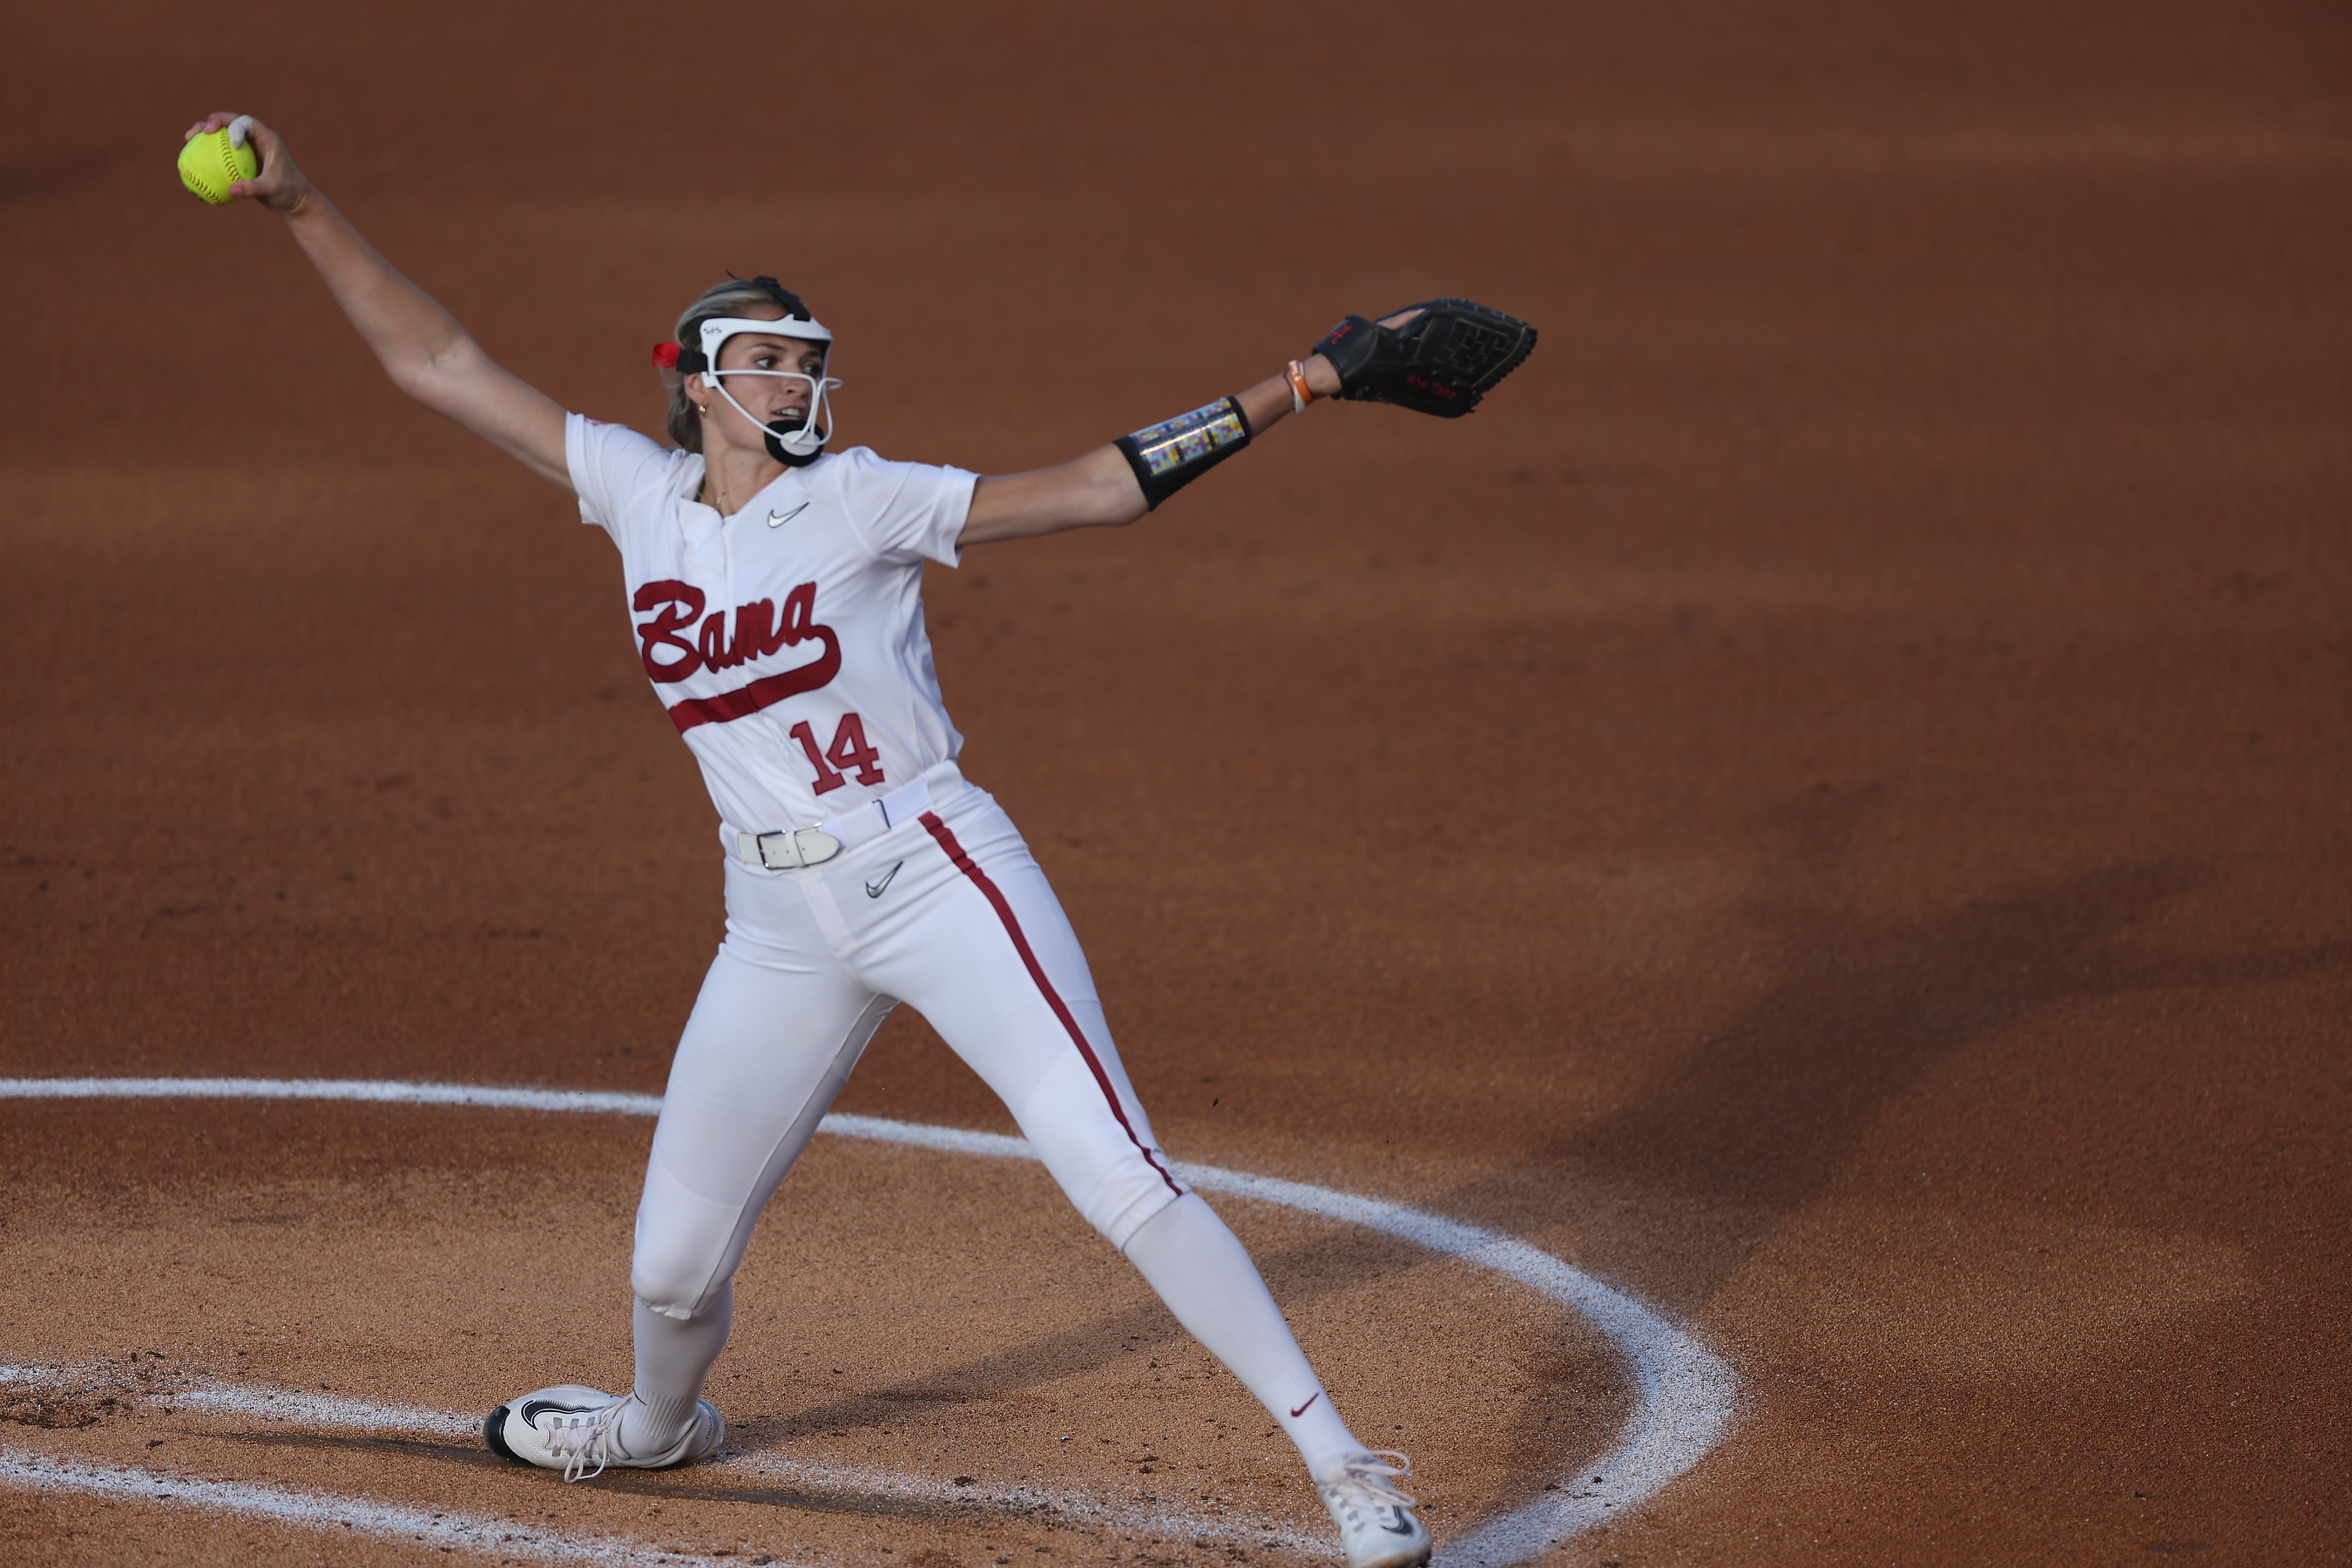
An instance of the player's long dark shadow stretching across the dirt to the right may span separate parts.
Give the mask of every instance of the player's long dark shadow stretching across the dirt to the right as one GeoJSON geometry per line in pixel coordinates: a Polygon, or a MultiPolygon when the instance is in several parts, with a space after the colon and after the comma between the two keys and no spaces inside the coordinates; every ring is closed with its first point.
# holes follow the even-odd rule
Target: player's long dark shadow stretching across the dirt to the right
{"type": "MultiPolygon", "coordinates": [[[[2105,865],[1971,898],[1919,919],[1875,922],[1842,893],[1858,823],[1877,790],[1823,788],[1792,802],[1766,837],[1785,851],[1766,863],[1752,924],[1778,954],[1780,978],[1715,1034],[1696,1041],[1656,1086],[1552,1145],[1475,1182],[1425,1199],[1444,1215],[1510,1227],[1531,1197],[1592,1190],[1665,1194],[1729,1215],[1677,1237],[1668,1279],[1642,1215],[1578,1237],[1581,1267],[1625,1281],[1668,1312],[1705,1305],[1757,1241],[1802,1211],[1853,1154],[1875,1119],[1924,1074],[1966,1046],[2051,1004],[2164,987],[2284,980],[2352,961],[2352,945],[2277,954],[2178,957],[2124,943],[2169,900],[2209,882],[2187,860],[2105,865]]],[[[1284,1302],[1312,1300],[1416,1267],[1411,1248],[1378,1239],[1329,1241],[1261,1258],[1284,1302]],[[1348,1267],[1334,1267],[1334,1248],[1348,1267]]],[[[788,1441],[818,1429],[894,1420],[906,1401],[962,1403],[1068,1378],[1183,1338],[1157,1305],[967,1361],[922,1380],[873,1389],[776,1427],[788,1441]]],[[[1566,1345],[1545,1349],[1571,1361],[1566,1345]]],[[[1541,1476],[1559,1462],[1543,1406],[1522,1406],[1515,1450],[1541,1476]]],[[[1534,1486],[1534,1481],[1531,1481],[1534,1486]]]]}

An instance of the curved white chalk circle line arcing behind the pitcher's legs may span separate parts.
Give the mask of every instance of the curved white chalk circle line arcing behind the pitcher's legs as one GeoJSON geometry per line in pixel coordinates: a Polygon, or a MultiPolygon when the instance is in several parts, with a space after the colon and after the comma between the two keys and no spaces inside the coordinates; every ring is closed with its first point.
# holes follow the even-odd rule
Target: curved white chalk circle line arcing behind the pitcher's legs
{"type": "MultiPolygon", "coordinates": [[[[369,1100],[388,1105],[477,1105],[494,1110],[609,1112],[654,1117],[661,1095],[579,1088],[499,1088],[475,1084],[395,1084],[372,1079],[0,1079],[0,1098],[235,1098],[235,1100],[369,1100]]],[[[821,1128],[953,1154],[1035,1159],[1028,1140],[882,1117],[830,1114],[821,1128]]],[[[1305,1213],[1364,1225],[1435,1253],[1446,1253],[1517,1279],[1588,1316],[1632,1366],[1635,1408],[1616,1448],[1559,1479],[1559,1490],[1486,1519],[1444,1544],[1446,1563],[1505,1568],[1538,1556],[1583,1530],[1658,1495],[1698,1465],[1731,1429],[1738,1380],[1731,1366],[1649,1305],[1583,1269],[1503,1232],[1331,1187],[1178,1164],[1176,1173],[1204,1192],[1282,1204],[1305,1213]]]]}

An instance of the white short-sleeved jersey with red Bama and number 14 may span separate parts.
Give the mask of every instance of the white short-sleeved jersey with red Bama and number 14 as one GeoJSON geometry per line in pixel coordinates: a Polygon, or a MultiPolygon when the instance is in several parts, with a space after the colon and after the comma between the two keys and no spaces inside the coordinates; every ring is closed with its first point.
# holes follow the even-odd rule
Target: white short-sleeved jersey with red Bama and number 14
{"type": "Polygon", "coordinates": [[[826,454],[734,517],[703,458],[564,416],[581,517],[621,548],[637,654],[703,764],[720,839],[811,827],[953,762],[922,562],[955,567],[978,475],[826,454]]]}

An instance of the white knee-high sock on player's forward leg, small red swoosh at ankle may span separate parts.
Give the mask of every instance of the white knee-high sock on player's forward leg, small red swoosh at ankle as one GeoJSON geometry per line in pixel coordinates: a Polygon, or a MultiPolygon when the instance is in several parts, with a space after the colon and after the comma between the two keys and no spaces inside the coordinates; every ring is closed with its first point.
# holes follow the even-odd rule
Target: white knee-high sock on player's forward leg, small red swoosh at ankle
{"type": "Polygon", "coordinates": [[[1188,1192],[1145,1220],[1127,1241],[1127,1260],[1176,1321],[1258,1396],[1298,1443],[1308,1472],[1319,1474],[1322,1460],[1362,1448],[1331,1408],[1249,1248],[1200,1194],[1188,1192]]]}

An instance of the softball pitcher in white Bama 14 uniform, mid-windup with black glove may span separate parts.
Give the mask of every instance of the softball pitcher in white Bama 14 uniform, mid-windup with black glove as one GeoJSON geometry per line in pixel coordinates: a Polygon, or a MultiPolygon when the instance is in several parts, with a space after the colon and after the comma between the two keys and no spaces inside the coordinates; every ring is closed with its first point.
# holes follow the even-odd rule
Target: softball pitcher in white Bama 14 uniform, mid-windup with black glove
{"type": "MultiPolygon", "coordinates": [[[[188,134],[228,125],[212,115],[188,134]]],[[[1468,301],[1350,315],[1284,374],[1061,468],[978,477],[828,451],[833,331],[771,277],[706,289],[654,350],[670,444],[567,414],[395,273],[254,122],[282,214],[390,378],[579,496],[621,552],[644,677],[720,816],[727,938],[670,1065],[630,1258],[635,1387],[557,1385],[482,1436],[564,1472],[691,1465],[753,1222],[866,1041],[910,1004],[1004,1100],[1061,1190],[1298,1446],[1350,1568],[1430,1554],[1404,1455],[1331,1408],[1256,1265],[1176,1178],[1077,936],[1021,832],[955,766],[922,564],[1129,524],[1322,397],[1458,416],[1534,348],[1468,301]]]]}

